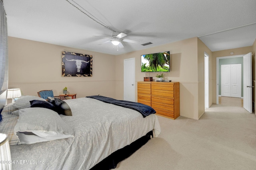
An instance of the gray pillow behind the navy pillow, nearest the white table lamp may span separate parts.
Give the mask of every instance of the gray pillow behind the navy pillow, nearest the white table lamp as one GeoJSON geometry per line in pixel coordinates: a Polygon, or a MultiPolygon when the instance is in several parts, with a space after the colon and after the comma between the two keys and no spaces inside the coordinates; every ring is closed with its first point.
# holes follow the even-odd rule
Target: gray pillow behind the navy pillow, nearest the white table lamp
{"type": "Polygon", "coordinates": [[[16,102],[14,102],[14,104],[12,104],[12,106],[17,109],[28,108],[28,107],[30,107],[30,102],[29,102],[30,100],[46,101],[45,99],[40,98],[38,96],[20,96],[20,98],[18,100],[16,100],[16,102]]]}

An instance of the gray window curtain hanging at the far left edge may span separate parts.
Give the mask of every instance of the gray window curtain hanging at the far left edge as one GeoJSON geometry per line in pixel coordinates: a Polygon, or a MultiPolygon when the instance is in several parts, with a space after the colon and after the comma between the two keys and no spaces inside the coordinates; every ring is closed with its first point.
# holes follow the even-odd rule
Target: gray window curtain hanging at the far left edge
{"type": "Polygon", "coordinates": [[[8,89],[7,18],[3,1],[0,0],[0,91],[8,89]]]}

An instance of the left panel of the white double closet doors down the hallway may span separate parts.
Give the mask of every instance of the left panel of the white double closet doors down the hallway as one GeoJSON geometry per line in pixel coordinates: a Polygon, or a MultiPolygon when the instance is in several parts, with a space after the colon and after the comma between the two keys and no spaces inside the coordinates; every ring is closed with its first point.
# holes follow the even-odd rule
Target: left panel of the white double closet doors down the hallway
{"type": "Polygon", "coordinates": [[[231,81],[230,81],[230,64],[221,65],[221,96],[230,97],[231,81]]]}

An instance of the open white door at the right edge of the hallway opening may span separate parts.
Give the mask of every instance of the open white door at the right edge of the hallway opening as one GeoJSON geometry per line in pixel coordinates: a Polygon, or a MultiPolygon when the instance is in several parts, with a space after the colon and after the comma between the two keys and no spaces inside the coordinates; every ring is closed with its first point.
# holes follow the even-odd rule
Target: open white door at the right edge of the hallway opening
{"type": "Polygon", "coordinates": [[[244,55],[244,108],[252,113],[252,53],[244,55]]]}

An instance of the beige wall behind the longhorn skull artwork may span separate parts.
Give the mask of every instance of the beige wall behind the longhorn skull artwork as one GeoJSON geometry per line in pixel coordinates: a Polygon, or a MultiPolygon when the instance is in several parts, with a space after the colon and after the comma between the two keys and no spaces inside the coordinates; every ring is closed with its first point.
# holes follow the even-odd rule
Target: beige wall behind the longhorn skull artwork
{"type": "Polygon", "coordinates": [[[53,90],[57,96],[66,86],[78,98],[116,96],[114,55],[14,37],[8,37],[8,49],[8,88],[20,88],[24,95],[37,96],[40,90],[53,90]],[[92,77],[62,77],[62,51],[92,55],[92,77]]]}

